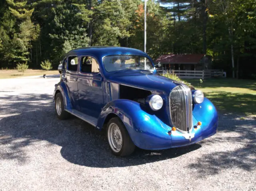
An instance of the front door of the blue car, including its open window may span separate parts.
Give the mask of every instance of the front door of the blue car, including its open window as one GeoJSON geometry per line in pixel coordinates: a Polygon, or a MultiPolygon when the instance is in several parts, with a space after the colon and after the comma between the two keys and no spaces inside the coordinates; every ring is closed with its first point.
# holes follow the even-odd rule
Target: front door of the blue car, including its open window
{"type": "Polygon", "coordinates": [[[97,60],[90,56],[81,56],[78,72],[80,111],[96,118],[98,118],[104,106],[102,79],[97,60]]]}

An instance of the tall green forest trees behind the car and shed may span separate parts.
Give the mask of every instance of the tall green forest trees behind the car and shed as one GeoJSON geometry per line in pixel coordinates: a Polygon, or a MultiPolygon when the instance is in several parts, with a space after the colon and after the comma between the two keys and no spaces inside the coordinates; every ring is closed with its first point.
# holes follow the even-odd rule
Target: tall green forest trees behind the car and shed
{"type": "MultiPolygon", "coordinates": [[[[56,69],[86,46],[144,50],[144,1],[0,0],[0,68],[56,69]]],[[[203,53],[228,77],[256,79],[256,0],[148,0],[147,53],[203,53]]]]}

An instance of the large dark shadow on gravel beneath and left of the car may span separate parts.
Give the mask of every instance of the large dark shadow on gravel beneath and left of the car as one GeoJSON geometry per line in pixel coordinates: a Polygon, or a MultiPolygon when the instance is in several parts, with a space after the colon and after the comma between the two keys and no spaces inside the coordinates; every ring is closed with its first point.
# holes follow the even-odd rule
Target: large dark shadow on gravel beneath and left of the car
{"type": "Polygon", "coordinates": [[[115,157],[108,148],[104,131],[98,131],[76,117],[63,121],[57,119],[51,99],[52,96],[46,94],[0,97],[6,103],[0,105],[1,114],[13,114],[0,119],[0,145],[8,147],[0,150],[0,159],[16,159],[20,163],[27,163],[28,151],[23,148],[40,140],[60,145],[62,157],[71,163],[102,168],[161,161],[201,147],[200,144],[194,144],[163,151],[136,149],[129,157],[115,157]]]}

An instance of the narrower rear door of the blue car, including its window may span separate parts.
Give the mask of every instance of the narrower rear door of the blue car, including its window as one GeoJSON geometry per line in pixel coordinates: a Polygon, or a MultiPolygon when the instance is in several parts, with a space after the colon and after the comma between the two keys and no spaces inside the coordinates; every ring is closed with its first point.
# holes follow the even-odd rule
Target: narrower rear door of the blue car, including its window
{"type": "Polygon", "coordinates": [[[78,103],[78,56],[68,56],[66,60],[66,84],[69,90],[70,101],[74,109],[79,110],[78,103]]]}

